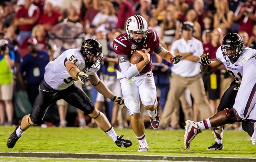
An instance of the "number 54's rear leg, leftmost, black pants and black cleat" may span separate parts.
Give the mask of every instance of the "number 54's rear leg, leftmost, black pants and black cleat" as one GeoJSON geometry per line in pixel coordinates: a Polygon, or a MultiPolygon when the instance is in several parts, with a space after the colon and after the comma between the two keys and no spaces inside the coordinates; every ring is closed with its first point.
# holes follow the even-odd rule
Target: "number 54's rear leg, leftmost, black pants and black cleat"
{"type": "Polygon", "coordinates": [[[12,135],[10,135],[7,146],[8,148],[13,148],[18,139],[32,125],[42,122],[44,115],[47,111],[49,105],[57,101],[58,91],[53,90],[44,81],[41,82],[39,86],[39,94],[34,101],[31,114],[25,115],[22,118],[20,126],[17,126],[12,135]],[[42,90],[45,90],[42,91],[42,90]]]}

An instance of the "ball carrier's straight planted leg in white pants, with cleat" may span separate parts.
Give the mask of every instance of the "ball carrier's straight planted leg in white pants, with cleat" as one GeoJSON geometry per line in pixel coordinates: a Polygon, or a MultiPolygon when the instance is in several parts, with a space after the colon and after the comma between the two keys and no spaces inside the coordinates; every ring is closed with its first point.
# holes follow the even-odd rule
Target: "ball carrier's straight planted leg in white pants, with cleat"
{"type": "Polygon", "coordinates": [[[147,151],[148,144],[145,137],[145,127],[142,119],[140,117],[140,97],[138,92],[138,87],[135,85],[137,77],[134,78],[124,78],[120,80],[122,94],[124,97],[124,103],[131,116],[132,129],[140,143],[140,148],[138,151],[147,151]]]}

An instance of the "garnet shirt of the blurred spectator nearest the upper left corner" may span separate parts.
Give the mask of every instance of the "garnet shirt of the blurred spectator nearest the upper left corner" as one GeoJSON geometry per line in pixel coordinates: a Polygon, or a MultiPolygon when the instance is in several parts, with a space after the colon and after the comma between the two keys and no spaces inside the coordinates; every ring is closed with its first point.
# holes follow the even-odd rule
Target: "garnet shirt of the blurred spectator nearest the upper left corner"
{"type": "MultiPolygon", "coordinates": [[[[20,18],[24,18],[24,19],[29,19],[29,18],[35,18],[36,20],[38,20],[40,17],[40,10],[38,7],[36,7],[36,9],[34,10],[34,13],[32,15],[32,17],[28,16],[28,8],[25,8],[24,6],[22,6],[18,12],[15,15],[15,18],[20,19],[20,18]]],[[[27,24],[27,25],[19,25],[19,29],[20,31],[30,31],[33,29],[35,24],[27,24]]]]}

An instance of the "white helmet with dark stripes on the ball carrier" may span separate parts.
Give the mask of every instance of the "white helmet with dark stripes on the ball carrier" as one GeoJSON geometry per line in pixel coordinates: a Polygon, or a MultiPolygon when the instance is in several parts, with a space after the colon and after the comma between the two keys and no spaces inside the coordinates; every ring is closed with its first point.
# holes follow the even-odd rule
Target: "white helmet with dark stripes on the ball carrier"
{"type": "Polygon", "coordinates": [[[148,33],[148,23],[140,15],[134,15],[128,18],[126,21],[126,33],[128,39],[135,45],[143,45],[146,41],[148,33]],[[132,37],[132,33],[142,34],[142,38],[135,39],[132,37]]]}

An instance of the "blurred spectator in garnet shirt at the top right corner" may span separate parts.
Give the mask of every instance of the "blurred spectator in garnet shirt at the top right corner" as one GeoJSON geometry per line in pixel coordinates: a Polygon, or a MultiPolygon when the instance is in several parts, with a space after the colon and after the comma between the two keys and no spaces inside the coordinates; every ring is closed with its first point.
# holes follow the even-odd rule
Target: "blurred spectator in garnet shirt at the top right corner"
{"type": "Polygon", "coordinates": [[[238,31],[246,31],[249,37],[252,36],[252,27],[256,22],[256,1],[240,3],[234,13],[234,21],[240,22],[238,31]]]}

